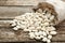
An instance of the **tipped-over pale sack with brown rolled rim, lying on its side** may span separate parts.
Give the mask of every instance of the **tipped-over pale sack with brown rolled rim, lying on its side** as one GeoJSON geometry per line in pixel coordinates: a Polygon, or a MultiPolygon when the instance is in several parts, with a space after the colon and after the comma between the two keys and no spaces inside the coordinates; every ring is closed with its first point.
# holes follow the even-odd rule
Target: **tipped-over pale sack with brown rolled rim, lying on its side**
{"type": "Polygon", "coordinates": [[[65,19],[65,2],[62,0],[46,0],[40,2],[34,10],[34,12],[41,12],[49,9],[55,15],[55,25],[60,24],[65,19]]]}

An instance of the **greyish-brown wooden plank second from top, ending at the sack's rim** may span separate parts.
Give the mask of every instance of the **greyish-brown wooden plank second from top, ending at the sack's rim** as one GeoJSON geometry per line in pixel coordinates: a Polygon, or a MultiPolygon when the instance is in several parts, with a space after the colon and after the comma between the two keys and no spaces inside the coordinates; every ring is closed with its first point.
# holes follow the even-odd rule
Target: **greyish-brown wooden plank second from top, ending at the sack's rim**
{"type": "Polygon", "coordinates": [[[0,6],[0,19],[13,19],[15,16],[22,15],[27,12],[32,12],[34,6],[0,6]]]}

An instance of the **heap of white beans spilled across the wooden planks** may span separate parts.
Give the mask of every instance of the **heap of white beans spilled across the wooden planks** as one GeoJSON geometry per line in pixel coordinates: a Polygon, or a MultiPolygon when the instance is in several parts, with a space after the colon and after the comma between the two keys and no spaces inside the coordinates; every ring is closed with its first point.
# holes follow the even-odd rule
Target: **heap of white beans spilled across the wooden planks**
{"type": "Polygon", "coordinates": [[[13,29],[29,31],[29,38],[50,43],[52,35],[56,34],[53,27],[54,15],[50,13],[25,13],[12,22],[13,29]]]}

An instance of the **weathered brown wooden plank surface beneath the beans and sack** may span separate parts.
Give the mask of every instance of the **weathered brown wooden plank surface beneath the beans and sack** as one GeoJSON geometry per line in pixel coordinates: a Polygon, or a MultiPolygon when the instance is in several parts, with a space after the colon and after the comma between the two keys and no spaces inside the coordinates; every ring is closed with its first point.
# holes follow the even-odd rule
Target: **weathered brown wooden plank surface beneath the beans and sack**
{"type": "MultiPolygon", "coordinates": [[[[32,12],[34,5],[44,0],[0,0],[0,42],[43,43],[30,40],[26,32],[14,31],[10,26],[15,16],[32,12]]],[[[56,30],[57,34],[53,37],[52,43],[65,43],[65,20],[56,26],[56,30]]]]}

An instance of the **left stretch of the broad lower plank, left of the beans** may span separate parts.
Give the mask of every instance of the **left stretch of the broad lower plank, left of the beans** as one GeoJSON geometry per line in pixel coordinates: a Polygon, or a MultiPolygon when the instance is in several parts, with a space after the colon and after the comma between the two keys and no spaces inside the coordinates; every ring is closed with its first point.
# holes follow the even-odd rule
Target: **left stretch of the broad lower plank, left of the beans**
{"type": "Polygon", "coordinates": [[[14,31],[12,28],[0,28],[0,42],[23,42],[23,41],[34,41],[28,39],[27,33],[20,31],[14,31]]]}

